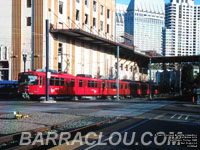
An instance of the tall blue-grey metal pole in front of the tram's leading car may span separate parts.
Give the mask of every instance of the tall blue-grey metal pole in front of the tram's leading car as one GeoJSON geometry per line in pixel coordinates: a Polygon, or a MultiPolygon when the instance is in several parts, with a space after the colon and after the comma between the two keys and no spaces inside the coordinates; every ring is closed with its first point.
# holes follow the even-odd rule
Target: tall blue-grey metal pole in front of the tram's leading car
{"type": "Polygon", "coordinates": [[[49,20],[46,20],[46,101],[49,101],[49,20]]]}

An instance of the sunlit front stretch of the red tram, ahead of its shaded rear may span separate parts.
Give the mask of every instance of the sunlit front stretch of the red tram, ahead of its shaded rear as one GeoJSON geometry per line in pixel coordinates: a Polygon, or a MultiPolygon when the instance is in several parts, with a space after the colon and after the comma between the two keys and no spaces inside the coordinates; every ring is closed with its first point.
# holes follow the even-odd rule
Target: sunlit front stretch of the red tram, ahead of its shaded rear
{"type": "MultiPolygon", "coordinates": [[[[130,95],[130,83],[119,81],[119,95],[130,95]]],[[[46,93],[45,70],[19,73],[19,93],[26,98],[40,98],[46,93]]],[[[115,80],[102,80],[90,76],[73,76],[66,73],[51,71],[49,95],[59,96],[115,96],[117,87],[115,80]]]]}

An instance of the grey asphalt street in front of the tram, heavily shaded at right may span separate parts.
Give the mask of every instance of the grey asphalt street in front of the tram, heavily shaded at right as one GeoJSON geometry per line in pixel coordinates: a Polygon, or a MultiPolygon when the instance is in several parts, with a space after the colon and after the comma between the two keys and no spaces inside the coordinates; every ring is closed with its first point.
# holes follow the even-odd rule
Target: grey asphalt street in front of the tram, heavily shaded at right
{"type": "MultiPolygon", "coordinates": [[[[116,131],[110,130],[101,140],[105,145],[80,145],[76,149],[199,149],[200,105],[190,102],[176,101],[58,101],[56,104],[42,104],[33,101],[0,101],[0,114],[21,112],[74,112],[86,115],[124,116],[132,118],[132,122],[116,131]],[[127,145],[121,140],[126,135],[127,145]],[[177,141],[171,141],[175,138],[177,141]]],[[[63,149],[66,148],[65,146],[63,149]]],[[[53,149],[62,149],[53,148],[53,149]]]]}

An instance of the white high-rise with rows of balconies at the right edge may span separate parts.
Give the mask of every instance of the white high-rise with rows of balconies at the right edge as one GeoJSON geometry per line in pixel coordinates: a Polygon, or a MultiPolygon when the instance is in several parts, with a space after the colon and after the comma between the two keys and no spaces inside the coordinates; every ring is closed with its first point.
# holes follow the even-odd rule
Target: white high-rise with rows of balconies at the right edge
{"type": "Polygon", "coordinates": [[[199,53],[198,11],[194,0],[171,0],[166,4],[164,55],[184,56],[199,53]]]}

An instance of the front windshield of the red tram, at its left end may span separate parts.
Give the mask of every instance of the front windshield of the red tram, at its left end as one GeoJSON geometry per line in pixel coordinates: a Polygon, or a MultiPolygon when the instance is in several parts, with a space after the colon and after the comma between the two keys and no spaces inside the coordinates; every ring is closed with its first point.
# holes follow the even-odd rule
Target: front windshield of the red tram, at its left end
{"type": "Polygon", "coordinates": [[[38,85],[37,76],[21,75],[19,76],[19,85],[38,85]]]}

